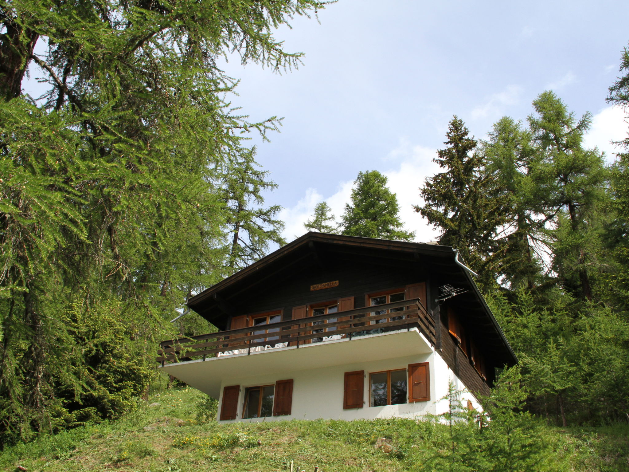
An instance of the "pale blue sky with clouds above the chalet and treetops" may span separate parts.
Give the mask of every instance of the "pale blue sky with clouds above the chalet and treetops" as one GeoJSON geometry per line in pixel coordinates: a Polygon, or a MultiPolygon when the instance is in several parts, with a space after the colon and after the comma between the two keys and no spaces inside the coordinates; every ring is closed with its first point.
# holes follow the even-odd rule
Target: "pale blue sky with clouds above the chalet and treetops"
{"type": "Polygon", "coordinates": [[[243,113],[284,117],[258,160],[279,184],[265,197],[284,207],[285,236],[305,232],[318,201],[340,216],[357,173],[377,169],[416,240],[434,239],[411,205],[438,171],[431,159],[452,115],[483,138],[503,115],[525,119],[546,89],[577,115],[594,114],[587,143],[610,154],[610,139],[628,130],[604,101],[629,42],[628,13],[620,1],[340,0],[320,23],[297,18],[277,31],[287,50],[306,54],[299,70],[225,69],[242,79],[233,103],[243,113]]]}

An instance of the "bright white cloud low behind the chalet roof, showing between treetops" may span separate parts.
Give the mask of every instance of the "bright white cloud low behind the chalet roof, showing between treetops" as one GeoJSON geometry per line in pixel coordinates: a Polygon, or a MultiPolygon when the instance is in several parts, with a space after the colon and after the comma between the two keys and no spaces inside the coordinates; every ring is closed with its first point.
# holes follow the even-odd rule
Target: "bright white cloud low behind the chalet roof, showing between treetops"
{"type": "MultiPolygon", "coordinates": [[[[426,177],[438,172],[438,166],[432,162],[436,150],[419,145],[411,145],[401,140],[400,145],[389,152],[387,160],[397,160],[398,165],[389,171],[382,172],[389,178],[388,186],[398,194],[399,215],[407,230],[415,231],[415,240],[427,242],[437,237],[437,232],[419,213],[413,210],[413,205],[420,205],[419,188],[426,177]]],[[[340,220],[345,211],[345,204],[349,203],[352,194],[353,181],[342,181],[337,186],[337,192],[325,199],[332,209],[332,213],[340,220]]],[[[306,232],[304,223],[309,220],[315,205],[323,201],[323,196],[316,189],[306,190],[304,197],[290,208],[282,210],[280,219],[286,223],[284,237],[291,241],[306,232]]]]}

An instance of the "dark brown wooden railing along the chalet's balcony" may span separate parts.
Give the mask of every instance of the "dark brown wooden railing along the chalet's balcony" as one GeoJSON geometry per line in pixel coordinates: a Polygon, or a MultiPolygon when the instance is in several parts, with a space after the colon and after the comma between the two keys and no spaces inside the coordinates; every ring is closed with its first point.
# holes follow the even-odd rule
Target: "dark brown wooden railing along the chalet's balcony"
{"type": "Polygon", "coordinates": [[[328,340],[355,339],[374,332],[413,327],[420,329],[426,339],[433,346],[435,345],[435,323],[419,298],[162,341],[157,362],[164,366],[166,362],[190,361],[196,358],[205,360],[206,357],[212,355],[250,353],[274,347],[299,347],[312,342],[325,343],[325,337],[328,337],[328,340]],[[404,308],[404,310],[390,312],[394,308],[404,308]],[[381,313],[383,311],[386,313],[381,313]],[[387,320],[387,318],[398,319],[387,320]],[[327,320],[335,321],[326,323],[327,320]],[[323,323],[313,324],[315,322],[323,323]],[[330,330],[331,328],[333,330],[330,330]]]}

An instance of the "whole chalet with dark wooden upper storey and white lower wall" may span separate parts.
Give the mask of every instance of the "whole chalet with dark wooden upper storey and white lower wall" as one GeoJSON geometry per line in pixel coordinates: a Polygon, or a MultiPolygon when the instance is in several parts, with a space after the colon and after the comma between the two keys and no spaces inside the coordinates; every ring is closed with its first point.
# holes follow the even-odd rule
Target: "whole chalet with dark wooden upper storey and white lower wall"
{"type": "Polygon", "coordinates": [[[420,417],[454,383],[479,408],[517,362],[449,246],[307,233],[192,297],[219,331],[161,343],[220,422],[420,417]]]}

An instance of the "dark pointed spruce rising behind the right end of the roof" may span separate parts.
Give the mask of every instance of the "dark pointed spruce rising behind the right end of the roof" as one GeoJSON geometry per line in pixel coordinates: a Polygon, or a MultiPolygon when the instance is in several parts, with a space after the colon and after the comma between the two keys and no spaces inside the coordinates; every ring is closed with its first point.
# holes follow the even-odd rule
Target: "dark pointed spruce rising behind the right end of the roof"
{"type": "Polygon", "coordinates": [[[450,120],[446,137],[445,149],[433,159],[445,171],[426,179],[420,188],[424,205],[415,211],[441,231],[439,244],[459,250],[481,275],[481,283],[491,284],[498,271],[494,254],[503,244],[501,227],[508,219],[503,211],[507,197],[457,116],[450,120]]]}

